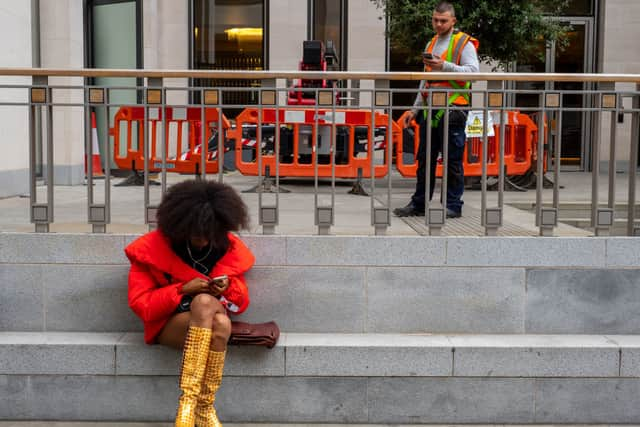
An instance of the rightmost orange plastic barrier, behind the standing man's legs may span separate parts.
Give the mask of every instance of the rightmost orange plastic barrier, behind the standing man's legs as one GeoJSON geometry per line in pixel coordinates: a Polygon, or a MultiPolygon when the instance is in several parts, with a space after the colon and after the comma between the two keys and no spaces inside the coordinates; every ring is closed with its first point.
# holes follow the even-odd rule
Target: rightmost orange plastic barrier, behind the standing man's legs
{"type": "MultiPolygon", "coordinates": [[[[407,114],[408,112],[405,112],[396,121],[399,127],[403,126],[402,124],[407,114]]],[[[531,117],[518,111],[508,111],[506,115],[507,123],[505,123],[504,127],[504,166],[506,175],[524,175],[529,170],[537,167],[538,126],[531,117]]],[[[396,145],[396,166],[404,177],[415,177],[418,169],[416,156],[420,141],[420,126],[414,120],[411,122],[410,127],[413,128],[414,132],[413,140],[405,138],[402,144],[396,145]],[[405,163],[403,152],[413,153],[414,161],[405,163]]],[[[545,122],[545,131],[546,127],[545,122]]],[[[500,172],[500,125],[495,124],[493,128],[495,135],[487,137],[487,176],[498,176],[500,172]]],[[[546,132],[544,143],[546,146],[546,132]]],[[[482,138],[467,138],[462,164],[464,176],[482,176],[482,138]]],[[[436,176],[442,176],[442,164],[440,162],[436,167],[436,176]]]]}

